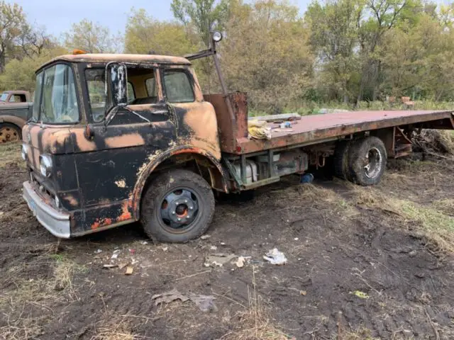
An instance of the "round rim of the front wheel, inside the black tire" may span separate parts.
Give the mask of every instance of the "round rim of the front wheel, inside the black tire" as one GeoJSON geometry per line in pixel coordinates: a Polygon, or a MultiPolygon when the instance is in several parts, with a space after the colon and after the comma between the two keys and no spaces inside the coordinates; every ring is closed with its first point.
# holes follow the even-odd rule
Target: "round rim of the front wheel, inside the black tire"
{"type": "Polygon", "coordinates": [[[199,217],[199,196],[192,189],[176,188],[165,194],[160,206],[160,222],[170,232],[187,232],[199,217]]]}

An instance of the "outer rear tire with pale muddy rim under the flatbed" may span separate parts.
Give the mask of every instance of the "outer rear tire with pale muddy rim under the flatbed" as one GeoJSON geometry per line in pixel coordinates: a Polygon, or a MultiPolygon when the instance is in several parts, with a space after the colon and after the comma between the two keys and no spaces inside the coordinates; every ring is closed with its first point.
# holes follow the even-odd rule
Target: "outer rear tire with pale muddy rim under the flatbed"
{"type": "Polygon", "coordinates": [[[378,137],[355,140],[349,147],[348,167],[353,183],[360,186],[374,186],[379,183],[386,163],[386,147],[378,137]]]}

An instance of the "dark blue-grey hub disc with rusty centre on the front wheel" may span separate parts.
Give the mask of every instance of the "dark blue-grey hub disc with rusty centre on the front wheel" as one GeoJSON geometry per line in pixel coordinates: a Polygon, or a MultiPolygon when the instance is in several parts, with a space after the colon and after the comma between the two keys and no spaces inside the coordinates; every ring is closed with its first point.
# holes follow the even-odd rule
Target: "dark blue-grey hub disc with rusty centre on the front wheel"
{"type": "Polygon", "coordinates": [[[199,212],[197,198],[188,189],[172,191],[161,204],[161,218],[166,225],[180,229],[190,225],[199,212]]]}

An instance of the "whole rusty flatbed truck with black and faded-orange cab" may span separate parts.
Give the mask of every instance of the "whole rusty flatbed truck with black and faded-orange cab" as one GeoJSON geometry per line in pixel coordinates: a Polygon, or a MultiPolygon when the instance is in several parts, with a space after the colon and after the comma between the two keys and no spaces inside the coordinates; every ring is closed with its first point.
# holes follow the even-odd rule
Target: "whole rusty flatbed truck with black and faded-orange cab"
{"type": "Polygon", "coordinates": [[[387,157],[411,152],[411,131],[454,128],[451,111],[349,112],[250,139],[246,95],[226,91],[215,41],[187,58],[64,55],[36,79],[23,197],[65,238],[140,221],[153,239],[187,242],[209,227],[213,189],[250,190],[328,157],[337,176],[373,185],[387,157]],[[208,56],[223,94],[201,93],[190,60],[208,56]]]}

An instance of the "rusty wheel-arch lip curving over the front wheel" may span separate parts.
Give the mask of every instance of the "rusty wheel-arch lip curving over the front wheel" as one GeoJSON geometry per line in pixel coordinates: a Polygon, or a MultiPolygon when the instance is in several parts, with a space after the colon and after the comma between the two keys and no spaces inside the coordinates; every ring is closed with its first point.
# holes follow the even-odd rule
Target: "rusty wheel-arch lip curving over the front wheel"
{"type": "Polygon", "coordinates": [[[156,152],[155,154],[150,155],[150,157],[148,157],[149,161],[140,167],[138,179],[137,181],[135,181],[133,190],[133,210],[134,216],[137,220],[140,217],[140,198],[142,197],[143,188],[145,188],[145,183],[148,177],[153,173],[157,166],[159,166],[159,164],[164,162],[166,159],[175,156],[176,154],[198,154],[202,157],[206,157],[206,159],[209,159],[211,164],[216,166],[216,169],[218,169],[218,171],[221,173],[223,177],[223,187],[226,192],[228,191],[228,187],[225,181],[225,179],[227,178],[226,171],[224,171],[219,160],[216,159],[216,157],[214,157],[210,152],[207,152],[204,149],[199,149],[198,147],[188,145],[182,145],[168,149],[165,152],[156,152]]]}

